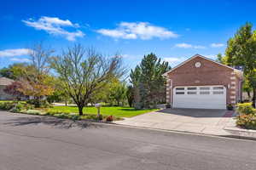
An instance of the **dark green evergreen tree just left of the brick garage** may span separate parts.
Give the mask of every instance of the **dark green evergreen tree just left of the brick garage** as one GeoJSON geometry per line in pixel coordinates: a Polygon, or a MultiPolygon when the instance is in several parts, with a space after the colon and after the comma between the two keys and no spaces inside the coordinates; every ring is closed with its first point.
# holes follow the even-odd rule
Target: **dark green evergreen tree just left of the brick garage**
{"type": "Polygon", "coordinates": [[[137,107],[155,107],[166,99],[166,82],[162,74],[170,70],[168,62],[161,61],[155,54],[145,55],[141,64],[131,71],[131,83],[135,90],[137,107]],[[138,101],[139,100],[139,101],[138,101]]]}

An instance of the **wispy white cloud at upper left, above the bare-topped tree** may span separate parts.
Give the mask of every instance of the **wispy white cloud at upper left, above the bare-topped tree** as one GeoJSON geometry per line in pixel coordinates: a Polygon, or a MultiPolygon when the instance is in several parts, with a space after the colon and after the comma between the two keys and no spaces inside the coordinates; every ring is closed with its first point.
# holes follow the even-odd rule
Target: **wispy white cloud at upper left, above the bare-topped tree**
{"type": "Polygon", "coordinates": [[[38,20],[22,20],[26,26],[32,26],[36,30],[44,30],[49,34],[55,36],[66,37],[68,41],[75,41],[76,37],[84,37],[84,32],[76,31],[67,31],[63,29],[64,26],[69,26],[73,28],[78,28],[79,24],[73,24],[70,20],[61,20],[57,17],[47,17],[43,16],[38,20]]]}

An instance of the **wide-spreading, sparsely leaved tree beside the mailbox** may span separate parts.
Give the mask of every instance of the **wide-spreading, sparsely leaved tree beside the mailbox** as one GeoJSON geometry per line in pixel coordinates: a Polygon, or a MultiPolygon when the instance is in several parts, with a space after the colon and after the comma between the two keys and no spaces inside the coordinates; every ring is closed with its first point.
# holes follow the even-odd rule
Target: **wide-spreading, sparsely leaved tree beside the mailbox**
{"type": "Polygon", "coordinates": [[[94,94],[103,90],[113,77],[125,73],[120,56],[107,59],[95,49],[85,49],[80,44],[53,58],[52,67],[64,82],[62,89],[78,105],[79,115],[83,115],[84,106],[94,94]]]}

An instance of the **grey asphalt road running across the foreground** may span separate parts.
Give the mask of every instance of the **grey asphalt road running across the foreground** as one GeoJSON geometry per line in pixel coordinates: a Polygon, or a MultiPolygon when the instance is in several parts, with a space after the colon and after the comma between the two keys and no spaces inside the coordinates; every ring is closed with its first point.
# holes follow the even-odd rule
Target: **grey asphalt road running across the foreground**
{"type": "Polygon", "coordinates": [[[0,170],[256,169],[256,142],[0,111],[0,170]]]}

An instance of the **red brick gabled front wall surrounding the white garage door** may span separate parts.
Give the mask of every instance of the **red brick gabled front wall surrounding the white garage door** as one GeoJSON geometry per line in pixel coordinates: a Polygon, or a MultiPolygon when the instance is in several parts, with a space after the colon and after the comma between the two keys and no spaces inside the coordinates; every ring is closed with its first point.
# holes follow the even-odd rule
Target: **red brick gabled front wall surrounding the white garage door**
{"type": "Polygon", "coordinates": [[[208,59],[195,57],[168,73],[166,79],[166,99],[169,103],[172,102],[172,89],[177,86],[210,85],[224,85],[227,89],[227,104],[236,104],[237,102],[239,78],[236,77],[236,73],[232,69],[208,59]],[[196,62],[201,63],[199,68],[195,67],[196,62]],[[172,88],[170,87],[171,81],[172,88]]]}

